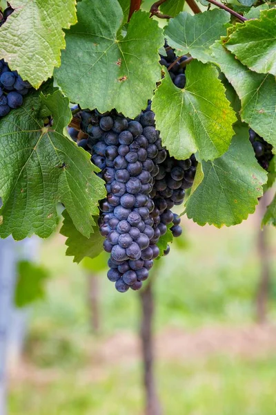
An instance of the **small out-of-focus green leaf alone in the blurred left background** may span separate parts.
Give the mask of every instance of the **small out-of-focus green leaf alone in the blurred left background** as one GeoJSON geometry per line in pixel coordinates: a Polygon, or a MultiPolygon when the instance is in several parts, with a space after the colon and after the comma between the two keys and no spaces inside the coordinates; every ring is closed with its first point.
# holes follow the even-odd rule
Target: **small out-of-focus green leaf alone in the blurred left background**
{"type": "Polygon", "coordinates": [[[48,270],[32,264],[30,261],[19,261],[17,264],[17,285],[14,292],[14,304],[25,307],[45,297],[45,283],[49,277],[48,270]]]}

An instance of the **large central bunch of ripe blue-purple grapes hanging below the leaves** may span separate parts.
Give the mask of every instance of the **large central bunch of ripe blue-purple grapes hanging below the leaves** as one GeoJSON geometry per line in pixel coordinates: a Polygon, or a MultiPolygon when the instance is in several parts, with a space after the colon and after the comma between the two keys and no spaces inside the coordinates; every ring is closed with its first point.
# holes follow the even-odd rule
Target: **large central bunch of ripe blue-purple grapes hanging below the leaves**
{"type": "Polygon", "coordinates": [[[170,209],[183,201],[184,188],[192,185],[195,163],[170,158],[155,129],[150,104],[135,120],[115,110],[82,111],[81,129],[88,138],[78,145],[90,151],[106,182],[99,229],[106,238],[103,248],[110,252],[108,279],[120,292],[138,290],[160,255],[157,243],[167,225],[172,223],[175,237],[181,234],[180,219],[170,209]]]}

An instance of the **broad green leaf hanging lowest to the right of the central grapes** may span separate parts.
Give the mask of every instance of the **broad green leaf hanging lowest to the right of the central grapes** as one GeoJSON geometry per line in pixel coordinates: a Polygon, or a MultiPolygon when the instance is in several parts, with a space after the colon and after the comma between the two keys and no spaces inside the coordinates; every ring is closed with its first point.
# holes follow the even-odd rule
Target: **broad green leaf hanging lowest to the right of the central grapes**
{"type": "Polygon", "coordinates": [[[248,140],[248,128],[237,128],[230,148],[220,158],[202,163],[186,201],[186,214],[199,225],[221,228],[247,219],[255,212],[266,172],[259,166],[248,140]]]}

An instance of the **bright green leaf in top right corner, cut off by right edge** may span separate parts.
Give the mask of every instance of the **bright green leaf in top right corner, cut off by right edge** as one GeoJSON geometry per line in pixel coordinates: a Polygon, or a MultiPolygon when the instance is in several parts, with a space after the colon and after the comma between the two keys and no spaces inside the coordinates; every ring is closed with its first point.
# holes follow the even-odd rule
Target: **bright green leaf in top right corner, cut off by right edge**
{"type": "Polygon", "coordinates": [[[252,71],[276,75],[276,8],[235,27],[224,46],[252,71]]]}

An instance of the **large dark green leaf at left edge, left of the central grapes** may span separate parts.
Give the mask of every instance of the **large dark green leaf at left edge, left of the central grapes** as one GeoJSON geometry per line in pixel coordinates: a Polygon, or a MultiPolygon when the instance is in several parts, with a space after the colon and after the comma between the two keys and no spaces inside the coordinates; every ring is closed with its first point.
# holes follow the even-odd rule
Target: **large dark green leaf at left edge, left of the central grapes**
{"type": "Polygon", "coordinates": [[[60,91],[45,96],[33,90],[21,108],[0,119],[0,237],[49,237],[57,226],[59,201],[79,232],[90,236],[91,215],[106,191],[90,154],[63,136],[71,117],[69,100],[60,91]],[[44,127],[46,116],[52,117],[51,127],[44,127]]]}

